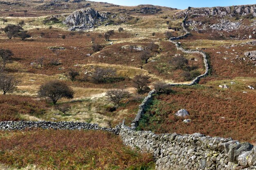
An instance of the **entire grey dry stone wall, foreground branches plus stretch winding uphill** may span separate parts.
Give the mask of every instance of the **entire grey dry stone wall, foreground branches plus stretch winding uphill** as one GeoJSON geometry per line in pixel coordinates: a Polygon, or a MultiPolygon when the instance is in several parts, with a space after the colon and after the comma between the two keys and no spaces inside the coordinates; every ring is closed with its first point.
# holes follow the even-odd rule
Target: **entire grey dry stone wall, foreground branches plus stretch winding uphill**
{"type": "MultiPolygon", "coordinates": [[[[205,72],[196,77],[189,84],[193,85],[209,72],[207,55],[203,51],[186,50],[180,47],[179,40],[186,37],[189,31],[185,28],[185,20],[182,23],[185,35],[171,38],[178,50],[184,53],[199,53],[204,58],[205,72]]],[[[140,148],[142,151],[153,154],[156,161],[156,170],[256,170],[256,146],[247,142],[239,143],[231,138],[209,137],[200,133],[192,135],[161,134],[151,131],[136,131],[139,119],[144,114],[148,101],[156,93],[152,90],[139,105],[139,110],[131,127],[121,126],[115,128],[101,128],[98,124],[72,121],[2,121],[0,130],[25,130],[27,128],[61,129],[61,130],[106,130],[119,135],[124,144],[132,148],[140,148]]]]}

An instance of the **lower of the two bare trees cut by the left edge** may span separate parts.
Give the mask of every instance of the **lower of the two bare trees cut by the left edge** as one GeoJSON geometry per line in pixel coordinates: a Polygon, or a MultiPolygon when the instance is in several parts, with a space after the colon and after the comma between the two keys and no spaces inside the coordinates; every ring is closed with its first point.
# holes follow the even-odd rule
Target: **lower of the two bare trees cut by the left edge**
{"type": "Polygon", "coordinates": [[[0,74],[0,90],[5,95],[7,92],[12,93],[16,90],[19,81],[11,75],[0,74]]]}

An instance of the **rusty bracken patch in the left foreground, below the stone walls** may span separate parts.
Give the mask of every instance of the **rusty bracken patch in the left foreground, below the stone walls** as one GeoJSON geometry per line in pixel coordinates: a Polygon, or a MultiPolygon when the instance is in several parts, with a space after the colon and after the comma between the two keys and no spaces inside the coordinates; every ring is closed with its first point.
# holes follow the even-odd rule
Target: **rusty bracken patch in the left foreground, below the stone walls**
{"type": "Polygon", "coordinates": [[[102,131],[31,130],[0,132],[0,163],[39,170],[153,170],[152,156],[132,150],[102,131]]]}

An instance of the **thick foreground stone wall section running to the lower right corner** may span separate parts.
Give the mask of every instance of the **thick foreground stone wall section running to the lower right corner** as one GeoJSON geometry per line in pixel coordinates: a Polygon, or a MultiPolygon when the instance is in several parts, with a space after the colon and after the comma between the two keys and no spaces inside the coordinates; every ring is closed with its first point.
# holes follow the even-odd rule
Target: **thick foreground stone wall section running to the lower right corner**
{"type": "Polygon", "coordinates": [[[135,131],[122,125],[124,144],[153,154],[156,170],[256,170],[256,146],[231,138],[135,131]]]}

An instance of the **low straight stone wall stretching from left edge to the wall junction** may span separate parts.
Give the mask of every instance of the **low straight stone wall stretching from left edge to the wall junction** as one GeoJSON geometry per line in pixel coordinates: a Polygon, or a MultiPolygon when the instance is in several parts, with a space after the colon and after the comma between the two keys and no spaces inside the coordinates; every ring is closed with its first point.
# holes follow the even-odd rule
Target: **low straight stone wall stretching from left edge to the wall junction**
{"type": "Polygon", "coordinates": [[[73,121],[1,121],[0,130],[25,130],[25,129],[61,129],[61,130],[105,130],[119,134],[119,126],[115,128],[101,128],[98,124],[73,121]]]}

